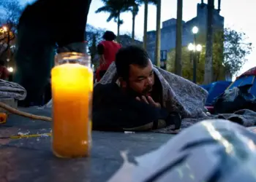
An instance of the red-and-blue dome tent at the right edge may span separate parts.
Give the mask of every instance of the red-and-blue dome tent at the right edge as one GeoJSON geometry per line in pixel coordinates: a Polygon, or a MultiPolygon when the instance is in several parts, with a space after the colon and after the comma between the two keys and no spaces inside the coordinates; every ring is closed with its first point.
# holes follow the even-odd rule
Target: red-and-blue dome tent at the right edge
{"type": "Polygon", "coordinates": [[[256,67],[249,69],[248,71],[244,72],[244,74],[241,74],[236,78],[236,81],[230,84],[228,89],[233,89],[233,87],[239,87],[244,86],[246,84],[252,84],[252,87],[249,89],[249,93],[252,95],[255,95],[256,97],[256,67]]]}

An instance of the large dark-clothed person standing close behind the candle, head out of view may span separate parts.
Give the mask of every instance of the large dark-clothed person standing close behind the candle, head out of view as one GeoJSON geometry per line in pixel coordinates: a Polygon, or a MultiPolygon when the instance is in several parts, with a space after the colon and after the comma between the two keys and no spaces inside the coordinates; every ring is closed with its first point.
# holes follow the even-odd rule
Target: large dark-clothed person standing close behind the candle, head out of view
{"type": "Polygon", "coordinates": [[[28,5],[18,23],[14,82],[27,96],[20,106],[42,98],[60,52],[85,52],[86,21],[91,0],[37,0],[28,5]],[[57,46],[56,46],[57,45],[57,46]]]}

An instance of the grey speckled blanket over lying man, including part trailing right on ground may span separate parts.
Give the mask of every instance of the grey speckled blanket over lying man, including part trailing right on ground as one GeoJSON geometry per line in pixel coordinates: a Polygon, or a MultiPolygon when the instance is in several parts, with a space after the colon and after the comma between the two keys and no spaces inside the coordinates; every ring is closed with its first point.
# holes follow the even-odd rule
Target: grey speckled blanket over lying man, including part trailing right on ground
{"type": "MultiPolygon", "coordinates": [[[[184,118],[181,128],[189,127],[196,122],[205,119],[228,119],[250,127],[255,125],[256,113],[249,110],[236,111],[234,114],[219,114],[208,116],[206,114],[205,102],[208,92],[202,87],[190,82],[187,79],[172,74],[161,68],[154,67],[154,72],[162,84],[162,98],[164,107],[170,111],[178,111],[184,118]]],[[[108,84],[116,82],[116,66],[112,63],[106,74],[99,83],[108,84]]],[[[170,127],[155,130],[155,132],[172,132],[170,127]]]]}

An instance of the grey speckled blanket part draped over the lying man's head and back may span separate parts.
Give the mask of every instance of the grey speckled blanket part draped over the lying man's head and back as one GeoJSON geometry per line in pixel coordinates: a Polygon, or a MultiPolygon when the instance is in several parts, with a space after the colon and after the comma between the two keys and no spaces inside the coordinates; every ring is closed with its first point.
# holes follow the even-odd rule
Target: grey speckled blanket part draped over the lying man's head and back
{"type": "MultiPolygon", "coordinates": [[[[182,118],[198,118],[206,115],[208,92],[187,79],[154,66],[154,73],[162,84],[162,103],[168,111],[176,111],[182,118]]],[[[112,63],[97,84],[117,81],[116,65],[112,63]]],[[[95,86],[97,85],[95,84],[95,86]]]]}

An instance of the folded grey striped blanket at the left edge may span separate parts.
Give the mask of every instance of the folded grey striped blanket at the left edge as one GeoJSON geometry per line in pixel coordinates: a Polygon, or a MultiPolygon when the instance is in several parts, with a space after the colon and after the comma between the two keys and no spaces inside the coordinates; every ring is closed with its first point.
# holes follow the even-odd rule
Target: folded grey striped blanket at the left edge
{"type": "Polygon", "coordinates": [[[20,84],[0,79],[0,98],[24,100],[26,98],[26,90],[20,84]]]}

